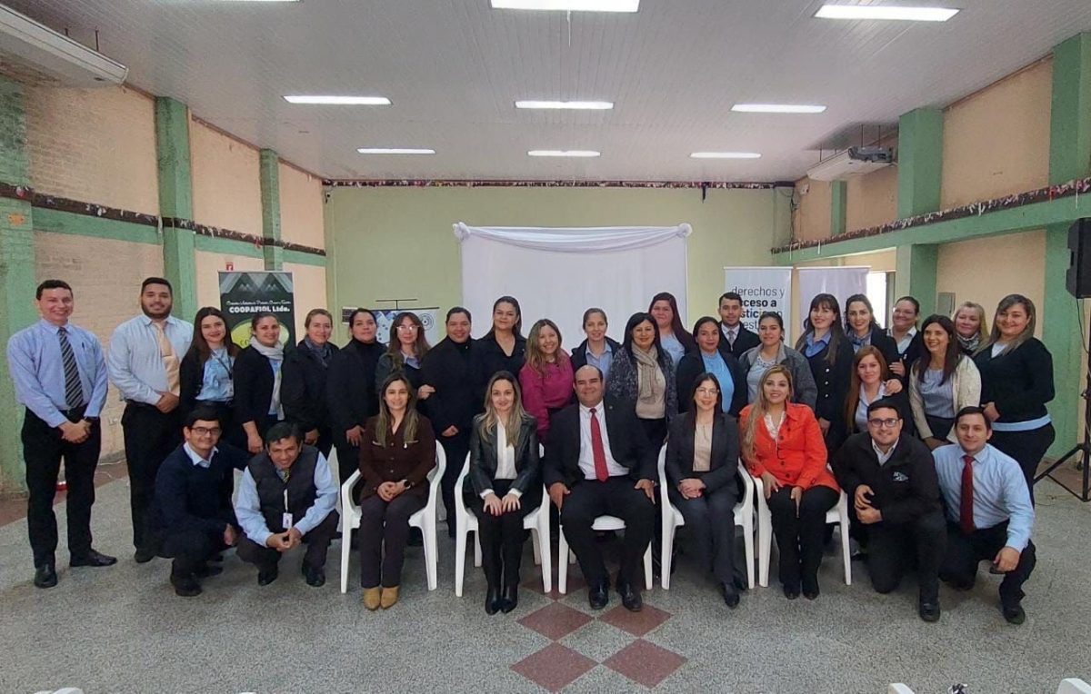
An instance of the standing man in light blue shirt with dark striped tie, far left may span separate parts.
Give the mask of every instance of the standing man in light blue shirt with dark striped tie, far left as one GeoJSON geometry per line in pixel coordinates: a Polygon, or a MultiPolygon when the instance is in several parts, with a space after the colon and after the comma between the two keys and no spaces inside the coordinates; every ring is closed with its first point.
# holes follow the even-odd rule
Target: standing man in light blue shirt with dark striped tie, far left
{"type": "Polygon", "coordinates": [[[34,305],[41,320],[8,341],[8,367],[15,399],[26,405],[22,439],[31,492],[26,524],[34,551],[34,585],[50,588],[57,585],[53,497],[61,459],[68,482],[71,565],[108,567],[117,561],[91,547],[106,361],[98,338],[69,322],[74,296],[68,283],[46,280],[38,285],[34,305]]]}

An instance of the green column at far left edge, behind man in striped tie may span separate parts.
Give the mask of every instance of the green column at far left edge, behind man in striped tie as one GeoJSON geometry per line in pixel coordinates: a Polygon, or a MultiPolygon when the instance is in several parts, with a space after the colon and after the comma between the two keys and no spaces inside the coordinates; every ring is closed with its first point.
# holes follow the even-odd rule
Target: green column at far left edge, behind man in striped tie
{"type": "MultiPolygon", "coordinates": [[[[0,181],[29,185],[26,109],[23,85],[0,75],[0,181]]],[[[63,278],[62,278],[63,279],[63,278]]],[[[33,324],[34,215],[25,200],[0,198],[0,342],[33,324]]],[[[7,350],[0,350],[0,494],[26,490],[20,429],[23,407],[8,372],[7,350]]]]}

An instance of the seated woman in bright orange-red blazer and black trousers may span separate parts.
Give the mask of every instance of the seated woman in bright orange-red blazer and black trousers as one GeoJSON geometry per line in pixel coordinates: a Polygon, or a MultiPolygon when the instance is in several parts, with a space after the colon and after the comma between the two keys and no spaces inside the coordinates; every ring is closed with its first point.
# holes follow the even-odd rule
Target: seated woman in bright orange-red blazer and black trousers
{"type": "Polygon", "coordinates": [[[762,376],[754,404],[739,416],[743,461],[760,477],[780,549],[784,597],[818,597],[826,512],[841,490],[826,468],[826,443],[814,412],[792,399],[792,374],[774,366],[762,376]]]}

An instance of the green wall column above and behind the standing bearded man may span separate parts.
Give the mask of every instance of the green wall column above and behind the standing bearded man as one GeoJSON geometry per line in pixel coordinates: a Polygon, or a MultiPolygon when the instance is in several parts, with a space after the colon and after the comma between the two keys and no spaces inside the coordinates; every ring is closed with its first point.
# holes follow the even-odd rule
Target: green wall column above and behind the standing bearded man
{"type": "Polygon", "coordinates": [[[156,97],[155,148],[159,167],[159,215],[165,220],[163,273],[175,288],[173,314],[192,320],[197,312],[194,233],[168,221],[193,219],[190,113],[181,101],[156,97]]]}

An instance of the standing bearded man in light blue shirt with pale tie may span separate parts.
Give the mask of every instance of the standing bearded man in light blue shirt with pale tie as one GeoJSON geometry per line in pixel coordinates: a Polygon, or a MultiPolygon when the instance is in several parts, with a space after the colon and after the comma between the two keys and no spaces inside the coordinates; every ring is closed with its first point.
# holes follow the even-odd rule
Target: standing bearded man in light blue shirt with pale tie
{"type": "Polygon", "coordinates": [[[147,532],[159,465],[182,442],[178,410],[180,366],[193,340],[193,324],[170,315],[173,290],[161,277],[141,285],[142,315],[121,324],[110,338],[110,381],[125,401],[121,427],[125,438],[132,507],[134,559],[151,561],[158,552],[147,532]]]}

